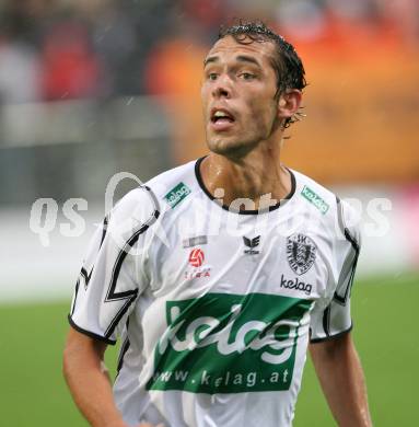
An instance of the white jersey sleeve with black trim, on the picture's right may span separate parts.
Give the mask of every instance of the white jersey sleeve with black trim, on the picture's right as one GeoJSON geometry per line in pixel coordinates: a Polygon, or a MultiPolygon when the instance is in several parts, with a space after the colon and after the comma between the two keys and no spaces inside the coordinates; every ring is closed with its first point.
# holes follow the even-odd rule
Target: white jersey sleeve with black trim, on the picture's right
{"type": "Polygon", "coordinates": [[[311,319],[311,342],[322,342],[339,336],[352,328],[350,295],[360,253],[360,227],[358,214],[337,199],[338,230],[342,233],[334,245],[330,259],[329,302],[315,304],[311,319]],[[337,278],[337,280],[335,279],[337,278]]]}

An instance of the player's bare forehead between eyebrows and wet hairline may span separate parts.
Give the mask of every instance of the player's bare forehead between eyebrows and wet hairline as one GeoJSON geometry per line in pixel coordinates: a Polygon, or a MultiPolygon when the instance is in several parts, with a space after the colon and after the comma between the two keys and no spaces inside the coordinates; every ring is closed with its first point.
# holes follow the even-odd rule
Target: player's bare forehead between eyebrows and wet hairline
{"type": "Polygon", "coordinates": [[[221,55],[236,56],[240,54],[256,55],[259,57],[267,56],[270,58],[273,55],[273,43],[270,41],[252,41],[249,37],[245,37],[243,38],[243,43],[238,43],[234,37],[225,36],[216,42],[208,53],[207,58],[221,55]]]}

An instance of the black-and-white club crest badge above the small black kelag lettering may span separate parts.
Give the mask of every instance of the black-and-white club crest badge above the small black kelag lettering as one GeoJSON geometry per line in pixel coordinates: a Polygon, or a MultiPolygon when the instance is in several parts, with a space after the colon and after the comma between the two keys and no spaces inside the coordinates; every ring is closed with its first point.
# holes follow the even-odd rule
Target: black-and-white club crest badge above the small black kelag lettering
{"type": "Polygon", "coordinates": [[[288,263],[298,275],[309,272],[316,259],[316,244],[304,234],[295,233],[287,238],[288,263]]]}

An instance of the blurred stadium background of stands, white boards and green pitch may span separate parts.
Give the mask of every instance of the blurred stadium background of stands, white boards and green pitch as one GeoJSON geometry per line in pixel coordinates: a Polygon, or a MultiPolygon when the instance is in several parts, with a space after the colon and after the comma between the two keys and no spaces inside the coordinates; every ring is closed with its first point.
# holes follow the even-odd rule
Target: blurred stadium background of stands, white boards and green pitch
{"type": "MultiPolygon", "coordinates": [[[[417,425],[417,0],[0,1],[1,425],[85,425],[61,349],[106,185],[206,152],[202,58],[236,16],[266,20],[303,58],[307,116],[289,131],[286,162],[362,208],[353,334],[371,411],[376,426],[417,425]],[[44,239],[45,211],[30,220],[39,198],[56,203],[44,239]],[[74,208],[80,227],[63,215],[73,198],[88,201],[74,208]]],[[[309,365],[295,426],[334,425],[309,365]]]]}

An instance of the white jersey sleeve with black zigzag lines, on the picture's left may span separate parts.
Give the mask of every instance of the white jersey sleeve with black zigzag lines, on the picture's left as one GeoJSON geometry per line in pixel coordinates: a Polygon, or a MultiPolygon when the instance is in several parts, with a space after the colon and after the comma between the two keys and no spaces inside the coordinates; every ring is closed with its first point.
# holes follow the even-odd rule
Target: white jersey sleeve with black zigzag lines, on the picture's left
{"type": "Polygon", "coordinates": [[[147,234],[159,217],[147,187],[124,197],[94,233],[75,285],[69,322],[115,344],[138,296],[148,286],[147,234]]]}

